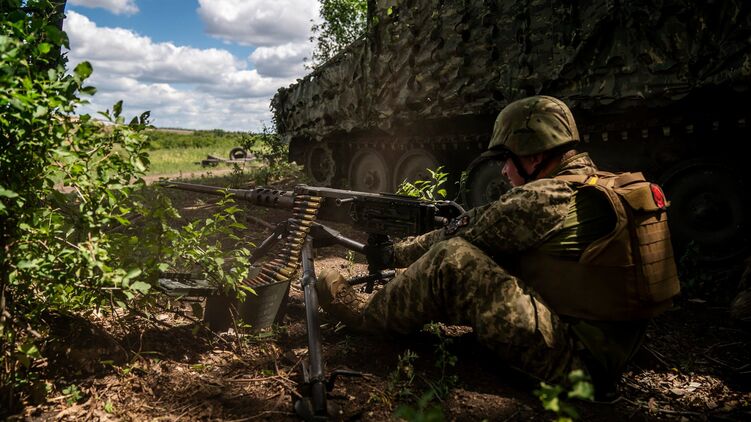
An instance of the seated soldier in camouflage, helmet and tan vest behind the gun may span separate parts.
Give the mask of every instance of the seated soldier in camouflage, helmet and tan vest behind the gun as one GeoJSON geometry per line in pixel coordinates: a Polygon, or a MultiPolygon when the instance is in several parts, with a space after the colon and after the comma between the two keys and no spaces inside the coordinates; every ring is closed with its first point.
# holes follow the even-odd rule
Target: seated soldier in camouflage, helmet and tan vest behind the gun
{"type": "Polygon", "coordinates": [[[613,398],[679,283],[662,191],[640,173],[598,171],[578,141],[562,101],[509,104],[483,155],[505,161],[513,188],[447,228],[369,248],[369,260],[406,267],[369,300],[322,273],[321,306],[366,332],[468,325],[510,366],[551,381],[585,369],[597,397],[613,398]]]}

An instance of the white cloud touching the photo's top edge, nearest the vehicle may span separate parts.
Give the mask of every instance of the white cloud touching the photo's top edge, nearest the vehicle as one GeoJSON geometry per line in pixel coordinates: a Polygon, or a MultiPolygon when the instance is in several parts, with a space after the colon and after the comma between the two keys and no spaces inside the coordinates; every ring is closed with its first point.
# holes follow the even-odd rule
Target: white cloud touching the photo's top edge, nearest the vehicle
{"type": "Polygon", "coordinates": [[[307,43],[318,2],[311,0],[198,0],[206,32],[242,45],[307,43]]]}

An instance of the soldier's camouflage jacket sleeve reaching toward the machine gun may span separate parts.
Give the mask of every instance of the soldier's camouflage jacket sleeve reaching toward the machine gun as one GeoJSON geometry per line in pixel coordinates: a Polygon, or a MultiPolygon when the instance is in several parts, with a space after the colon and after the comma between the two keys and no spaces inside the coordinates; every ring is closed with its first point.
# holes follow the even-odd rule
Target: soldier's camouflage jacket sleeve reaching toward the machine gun
{"type": "Polygon", "coordinates": [[[490,256],[530,249],[561,227],[573,195],[568,184],[553,179],[513,188],[498,201],[470,210],[469,224],[453,234],[434,230],[395,244],[396,264],[408,266],[433,244],[453,236],[465,238],[490,256]]]}

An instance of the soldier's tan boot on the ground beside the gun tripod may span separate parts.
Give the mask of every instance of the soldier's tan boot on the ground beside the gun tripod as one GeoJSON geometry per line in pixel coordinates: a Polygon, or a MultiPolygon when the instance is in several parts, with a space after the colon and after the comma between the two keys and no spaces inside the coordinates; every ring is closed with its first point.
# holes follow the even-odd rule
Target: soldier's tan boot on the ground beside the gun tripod
{"type": "Polygon", "coordinates": [[[338,271],[322,271],[315,286],[318,302],[324,311],[352,329],[362,327],[362,310],[367,301],[357,294],[338,271]]]}

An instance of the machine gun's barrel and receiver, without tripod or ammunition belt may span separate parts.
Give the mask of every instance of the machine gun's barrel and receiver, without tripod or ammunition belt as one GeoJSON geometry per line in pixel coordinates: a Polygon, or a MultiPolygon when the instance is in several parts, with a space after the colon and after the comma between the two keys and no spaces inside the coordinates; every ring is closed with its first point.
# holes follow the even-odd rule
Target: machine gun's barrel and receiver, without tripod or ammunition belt
{"type": "Polygon", "coordinates": [[[292,191],[256,188],[223,189],[213,186],[167,181],[174,189],[231,195],[236,200],[268,208],[295,208],[295,199],[320,197],[317,220],[349,224],[369,234],[395,237],[414,236],[445,226],[464,213],[453,201],[426,201],[409,196],[369,193],[297,185],[292,191]]]}

